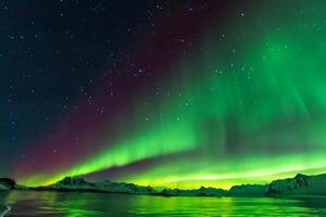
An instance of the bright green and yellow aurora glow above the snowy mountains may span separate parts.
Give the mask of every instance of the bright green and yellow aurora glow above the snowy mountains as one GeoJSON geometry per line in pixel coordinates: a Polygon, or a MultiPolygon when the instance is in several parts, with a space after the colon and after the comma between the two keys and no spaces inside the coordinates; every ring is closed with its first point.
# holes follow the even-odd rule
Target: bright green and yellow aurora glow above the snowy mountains
{"type": "Polygon", "coordinates": [[[227,189],[326,173],[326,4],[287,5],[286,14],[265,5],[208,29],[170,67],[159,100],[143,95],[130,108],[139,126],[131,136],[71,168],[18,181],[46,184],[173,154],[116,180],[227,189]]]}

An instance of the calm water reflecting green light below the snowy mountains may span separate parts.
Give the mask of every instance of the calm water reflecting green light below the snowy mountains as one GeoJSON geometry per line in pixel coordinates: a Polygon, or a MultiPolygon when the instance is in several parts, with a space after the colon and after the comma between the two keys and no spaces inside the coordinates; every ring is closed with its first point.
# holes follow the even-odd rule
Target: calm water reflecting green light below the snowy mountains
{"type": "MultiPolygon", "coordinates": [[[[326,200],[161,197],[101,193],[2,192],[5,216],[326,216],[326,200]]],[[[1,215],[0,215],[1,216],[1,215]]]]}

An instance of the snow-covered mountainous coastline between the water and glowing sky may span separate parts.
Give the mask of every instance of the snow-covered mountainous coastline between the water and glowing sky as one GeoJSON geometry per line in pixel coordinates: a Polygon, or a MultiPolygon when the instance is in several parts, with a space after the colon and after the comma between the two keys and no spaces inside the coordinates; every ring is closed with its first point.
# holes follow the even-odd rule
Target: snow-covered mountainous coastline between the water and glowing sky
{"type": "MultiPolygon", "coordinates": [[[[216,188],[193,190],[163,189],[158,191],[152,187],[142,187],[125,182],[88,182],[79,177],[66,177],[57,183],[45,187],[25,187],[16,184],[9,178],[0,179],[0,191],[58,191],[58,192],[99,192],[123,193],[135,195],[160,195],[160,196],[238,196],[238,197],[311,197],[326,196],[326,174],[306,176],[298,174],[293,178],[274,180],[267,184],[241,184],[234,186],[228,191],[216,188]]],[[[8,210],[7,210],[8,212],[8,210]]]]}

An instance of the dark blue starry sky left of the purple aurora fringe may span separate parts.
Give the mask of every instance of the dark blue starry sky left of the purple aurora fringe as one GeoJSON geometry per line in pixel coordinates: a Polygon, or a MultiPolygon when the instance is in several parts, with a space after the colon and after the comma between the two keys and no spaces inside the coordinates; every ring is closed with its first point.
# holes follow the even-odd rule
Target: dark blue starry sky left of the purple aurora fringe
{"type": "Polygon", "coordinates": [[[77,99],[113,79],[130,46],[187,1],[0,2],[0,174],[25,157],[77,99]]]}

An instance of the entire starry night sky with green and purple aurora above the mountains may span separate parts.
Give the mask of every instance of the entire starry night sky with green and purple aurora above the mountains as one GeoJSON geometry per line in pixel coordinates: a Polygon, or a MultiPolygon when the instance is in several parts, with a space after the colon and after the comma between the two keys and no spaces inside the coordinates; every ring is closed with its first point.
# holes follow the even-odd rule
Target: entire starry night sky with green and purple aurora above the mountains
{"type": "Polygon", "coordinates": [[[326,1],[0,1],[0,177],[229,188],[326,173],[326,1]]]}

